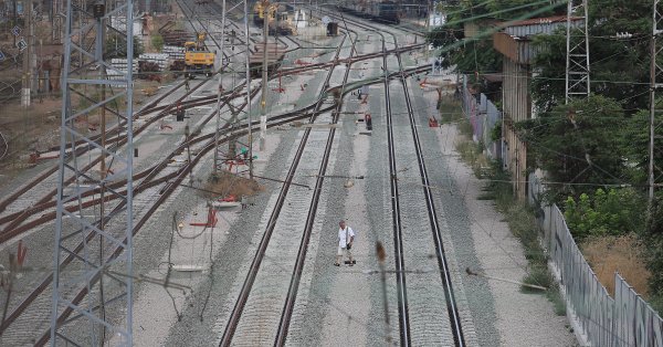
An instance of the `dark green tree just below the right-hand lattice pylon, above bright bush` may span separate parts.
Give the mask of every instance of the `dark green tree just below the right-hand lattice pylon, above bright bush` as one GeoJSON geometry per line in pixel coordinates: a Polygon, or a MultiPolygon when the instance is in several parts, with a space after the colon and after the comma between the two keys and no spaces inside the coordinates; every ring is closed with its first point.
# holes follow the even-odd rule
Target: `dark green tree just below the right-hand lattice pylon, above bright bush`
{"type": "Polygon", "coordinates": [[[625,123],[621,105],[600,95],[556,106],[516,124],[527,143],[533,168],[546,170],[551,200],[578,197],[593,188],[573,183],[621,183],[624,159],[619,133],[625,123]]]}

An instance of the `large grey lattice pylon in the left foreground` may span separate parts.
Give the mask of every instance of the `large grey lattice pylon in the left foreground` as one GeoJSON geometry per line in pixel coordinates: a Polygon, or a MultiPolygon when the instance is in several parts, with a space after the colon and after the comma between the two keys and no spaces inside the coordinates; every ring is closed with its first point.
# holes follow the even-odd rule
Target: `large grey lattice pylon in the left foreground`
{"type": "Polygon", "coordinates": [[[74,1],[64,35],[51,344],[130,346],[134,6],[74,1]],[[125,71],[110,57],[126,59],[125,71]],[[86,208],[99,198],[106,202],[86,208]]]}

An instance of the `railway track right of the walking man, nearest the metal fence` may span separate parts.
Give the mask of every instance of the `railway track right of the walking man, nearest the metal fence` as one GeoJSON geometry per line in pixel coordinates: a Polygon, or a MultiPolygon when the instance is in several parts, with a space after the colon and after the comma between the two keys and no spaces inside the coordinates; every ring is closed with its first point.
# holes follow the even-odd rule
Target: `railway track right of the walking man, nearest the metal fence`
{"type": "MultiPolygon", "coordinates": [[[[329,15],[334,15],[333,13],[328,13],[329,15]]],[[[389,34],[393,38],[393,42],[391,42],[391,44],[393,44],[393,55],[397,59],[397,66],[398,66],[398,84],[401,87],[402,91],[402,95],[404,96],[404,103],[406,103],[406,109],[403,109],[403,112],[401,112],[401,109],[399,109],[398,112],[393,112],[392,109],[392,105],[391,105],[391,101],[399,98],[399,97],[394,97],[391,95],[391,86],[390,86],[390,78],[385,77],[385,106],[386,106],[386,116],[387,116],[387,139],[388,139],[388,151],[389,151],[389,175],[391,177],[390,180],[390,189],[391,189],[391,207],[392,207],[392,223],[393,223],[393,246],[394,246],[394,264],[396,264],[396,282],[397,282],[397,295],[398,295],[398,311],[399,311],[399,325],[400,325],[400,344],[401,346],[410,346],[410,345],[420,345],[420,344],[427,344],[430,341],[427,341],[425,337],[421,337],[424,336],[425,334],[423,332],[421,332],[421,326],[427,326],[427,319],[430,318],[431,316],[439,316],[440,313],[445,313],[446,315],[446,320],[449,328],[448,327],[438,327],[438,330],[440,334],[439,336],[445,336],[451,334],[451,336],[453,337],[453,344],[455,346],[465,346],[465,337],[463,334],[463,328],[462,328],[462,318],[460,316],[459,313],[459,308],[457,308],[457,304],[456,304],[456,298],[455,298],[455,294],[454,294],[454,288],[453,288],[453,283],[451,281],[451,270],[450,270],[450,265],[446,259],[446,254],[444,251],[444,245],[442,243],[442,231],[440,228],[440,221],[438,219],[438,213],[435,211],[435,206],[433,202],[433,194],[431,192],[431,183],[428,177],[428,171],[425,168],[425,161],[423,158],[423,151],[422,151],[422,147],[421,147],[421,141],[420,141],[420,137],[419,137],[419,130],[418,130],[418,125],[417,125],[417,119],[414,116],[414,111],[412,108],[412,103],[410,99],[410,94],[409,94],[409,88],[408,88],[408,81],[407,77],[403,73],[403,64],[401,61],[401,56],[400,56],[400,50],[398,48],[398,41],[397,41],[397,36],[396,34],[393,34],[392,32],[390,32],[389,30],[385,30],[385,28],[377,28],[370,24],[367,24],[365,22],[358,22],[358,21],[354,21],[351,18],[345,19],[347,22],[352,23],[354,25],[360,27],[360,28],[365,28],[367,30],[373,31],[375,33],[377,33],[378,35],[381,36],[381,41],[382,41],[382,50],[386,51],[386,42],[387,40],[385,39],[385,34],[389,34]],[[399,133],[399,127],[400,124],[399,122],[401,119],[397,119],[397,122],[394,122],[394,117],[393,115],[398,114],[407,114],[407,119],[408,119],[408,127],[410,128],[410,140],[412,144],[412,148],[408,148],[408,146],[404,146],[403,144],[407,143],[406,137],[403,136],[403,134],[398,134],[399,133]],[[394,138],[394,129],[397,129],[397,138],[394,138]],[[399,147],[399,149],[397,150],[397,147],[399,147]],[[400,162],[406,162],[402,164],[402,166],[408,166],[408,161],[411,160],[411,158],[417,158],[417,162],[414,164],[418,169],[419,169],[419,177],[420,177],[420,181],[422,185],[422,196],[418,194],[414,199],[412,199],[411,197],[404,196],[403,198],[406,198],[408,201],[406,202],[407,204],[417,204],[418,201],[421,201],[422,199],[425,201],[424,204],[424,210],[427,211],[427,217],[429,220],[429,228],[431,230],[431,235],[432,235],[432,240],[433,240],[433,244],[434,244],[434,249],[435,249],[435,255],[436,255],[436,260],[438,260],[438,266],[440,269],[440,281],[441,281],[441,286],[442,286],[442,295],[444,296],[444,303],[445,303],[445,309],[441,309],[438,308],[436,311],[431,309],[431,304],[433,304],[434,302],[428,301],[425,303],[422,303],[423,305],[418,305],[417,307],[412,307],[412,312],[417,312],[419,315],[421,315],[423,313],[423,318],[419,318],[417,316],[414,316],[413,318],[411,317],[410,314],[410,305],[411,305],[411,301],[408,299],[408,285],[407,285],[407,281],[406,281],[406,274],[408,272],[408,269],[406,267],[406,259],[410,257],[411,259],[411,263],[417,263],[418,260],[421,259],[425,259],[425,254],[421,254],[421,255],[417,255],[417,254],[412,254],[412,255],[408,255],[409,253],[412,253],[411,250],[417,250],[418,249],[418,244],[420,244],[419,242],[415,244],[412,244],[411,246],[408,246],[408,236],[403,233],[403,227],[411,227],[410,223],[415,223],[415,222],[408,222],[407,218],[406,218],[406,222],[403,222],[403,214],[402,214],[402,209],[401,209],[401,197],[402,194],[399,192],[399,177],[401,177],[402,175],[399,172],[398,170],[398,166],[397,166],[397,161],[400,162]],[[397,159],[398,158],[398,159],[397,159]],[[428,317],[428,318],[427,318],[428,317]],[[417,324],[412,324],[412,319],[417,320],[417,324]],[[449,329],[449,330],[448,330],[449,329]],[[415,332],[419,330],[419,332],[415,332]],[[417,343],[413,343],[412,339],[415,338],[419,335],[419,339],[417,340],[417,343]]],[[[382,61],[382,66],[390,66],[390,64],[388,63],[387,60],[388,54],[383,55],[383,61],[382,61]]],[[[423,215],[422,215],[423,217],[423,215]]],[[[410,228],[411,229],[411,228],[410,228]]],[[[420,246],[419,246],[420,248],[420,246]]],[[[415,253],[417,251],[414,251],[415,253]]],[[[417,281],[417,280],[415,280],[417,281]]],[[[427,282],[430,283],[430,282],[427,282]]],[[[412,288],[419,288],[421,287],[421,285],[424,285],[424,283],[419,283],[419,284],[414,284],[412,286],[412,288]]],[[[428,290],[427,290],[428,292],[428,290]]],[[[417,293],[417,295],[414,295],[414,297],[420,297],[421,295],[427,295],[429,293],[417,293]]],[[[430,326],[427,326],[430,328],[430,326]]],[[[436,340],[435,344],[448,344],[450,341],[440,341],[436,340]]]]}

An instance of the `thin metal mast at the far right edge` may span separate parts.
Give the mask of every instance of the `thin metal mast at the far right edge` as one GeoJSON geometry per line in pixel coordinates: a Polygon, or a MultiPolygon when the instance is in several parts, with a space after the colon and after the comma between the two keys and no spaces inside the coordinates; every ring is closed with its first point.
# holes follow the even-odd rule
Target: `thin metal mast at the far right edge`
{"type": "MultiPolygon", "coordinates": [[[[660,30],[659,25],[661,23],[661,12],[663,12],[663,8],[661,8],[661,2],[659,0],[654,0],[653,8],[653,23],[652,23],[652,43],[651,43],[651,63],[650,63],[650,162],[649,162],[649,206],[650,211],[652,203],[654,201],[654,187],[656,186],[656,171],[660,171],[659,168],[654,165],[655,159],[655,138],[656,138],[656,127],[660,125],[661,119],[656,119],[656,88],[663,86],[663,81],[661,81],[661,74],[663,73],[663,67],[661,67],[662,63],[659,60],[659,55],[661,54],[661,48],[656,46],[656,38],[663,32],[660,30]]],[[[660,175],[660,172],[659,172],[660,175]]]]}

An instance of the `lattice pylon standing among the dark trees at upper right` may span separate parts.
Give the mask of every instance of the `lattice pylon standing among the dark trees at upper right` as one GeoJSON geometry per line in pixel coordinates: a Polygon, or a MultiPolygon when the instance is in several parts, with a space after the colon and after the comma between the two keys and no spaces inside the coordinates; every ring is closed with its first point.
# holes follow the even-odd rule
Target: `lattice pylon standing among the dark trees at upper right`
{"type": "Polygon", "coordinates": [[[566,103],[571,97],[589,96],[589,40],[587,35],[587,0],[576,4],[569,0],[567,8],[567,64],[566,64],[566,103]],[[580,25],[572,22],[580,21],[580,25]],[[572,36],[571,30],[578,29],[572,36]]]}

